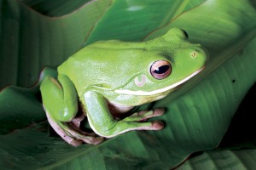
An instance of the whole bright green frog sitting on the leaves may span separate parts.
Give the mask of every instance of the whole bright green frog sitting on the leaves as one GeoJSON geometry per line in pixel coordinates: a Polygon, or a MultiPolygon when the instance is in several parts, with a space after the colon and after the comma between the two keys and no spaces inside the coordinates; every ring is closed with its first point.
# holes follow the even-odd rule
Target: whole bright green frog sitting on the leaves
{"type": "Polygon", "coordinates": [[[131,130],[160,130],[162,122],[145,120],[163,115],[164,109],[116,117],[164,98],[202,71],[206,61],[205,49],[189,42],[186,33],[177,28],[146,42],[95,42],[61,64],[57,80],[44,79],[40,87],[44,110],[56,133],[74,146],[99,144],[104,137],[131,130]],[[166,62],[171,66],[154,72],[155,63],[157,67],[166,62]],[[82,115],[77,115],[79,103],[82,115]],[[97,135],[79,128],[84,116],[97,135]]]}

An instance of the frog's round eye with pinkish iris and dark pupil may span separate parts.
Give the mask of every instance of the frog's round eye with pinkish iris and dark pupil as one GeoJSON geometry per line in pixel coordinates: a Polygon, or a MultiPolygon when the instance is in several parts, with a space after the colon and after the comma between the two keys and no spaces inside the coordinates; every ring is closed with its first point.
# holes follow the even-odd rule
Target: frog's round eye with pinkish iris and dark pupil
{"type": "Polygon", "coordinates": [[[172,72],[172,66],[166,60],[158,60],[150,67],[151,75],[156,79],[164,79],[168,77],[172,72]]]}

